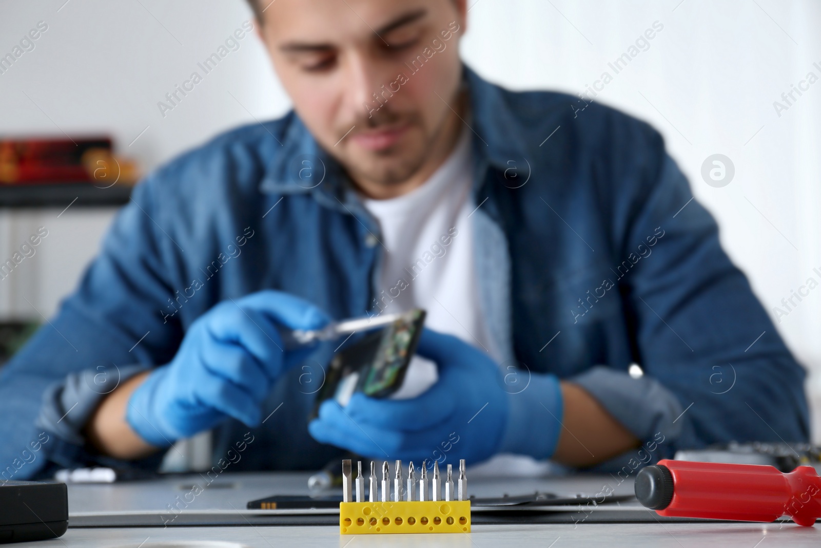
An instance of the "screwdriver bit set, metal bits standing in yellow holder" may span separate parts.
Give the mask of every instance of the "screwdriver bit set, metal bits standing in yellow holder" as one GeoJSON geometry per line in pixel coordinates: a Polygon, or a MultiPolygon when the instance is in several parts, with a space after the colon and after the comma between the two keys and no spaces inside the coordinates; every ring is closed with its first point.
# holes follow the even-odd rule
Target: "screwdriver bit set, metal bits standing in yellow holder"
{"type": "Polygon", "coordinates": [[[470,532],[470,499],[467,496],[465,459],[459,461],[459,477],[447,465],[445,481],[439,476],[439,463],[433,463],[433,478],[428,481],[428,467],[422,463],[419,480],[413,463],[402,478],[402,463],[397,464],[391,480],[388,463],[383,463],[382,480],[376,477],[376,465],[370,463],[368,500],[365,500],[365,476],[362,462],[356,463],[353,477],[351,461],[342,461],[342,503],[339,504],[339,532],[343,535],[470,532]],[[443,496],[444,495],[444,496],[443,496]]]}

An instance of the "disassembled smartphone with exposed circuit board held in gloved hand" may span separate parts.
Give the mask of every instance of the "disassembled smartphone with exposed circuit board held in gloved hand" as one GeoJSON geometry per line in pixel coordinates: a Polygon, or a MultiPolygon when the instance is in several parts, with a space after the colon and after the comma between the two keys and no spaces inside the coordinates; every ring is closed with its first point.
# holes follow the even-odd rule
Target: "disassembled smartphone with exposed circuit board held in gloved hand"
{"type": "Polygon", "coordinates": [[[396,392],[416,352],[424,315],[419,308],[407,311],[381,329],[346,343],[331,360],[325,384],[317,393],[314,416],[327,399],[345,407],[355,392],[371,398],[388,398],[396,392]]]}

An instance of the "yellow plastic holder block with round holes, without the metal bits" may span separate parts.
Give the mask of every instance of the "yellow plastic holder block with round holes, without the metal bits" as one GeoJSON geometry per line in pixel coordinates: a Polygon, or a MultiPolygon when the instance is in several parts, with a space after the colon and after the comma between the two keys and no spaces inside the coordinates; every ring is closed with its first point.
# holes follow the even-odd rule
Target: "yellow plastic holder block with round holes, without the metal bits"
{"type": "Polygon", "coordinates": [[[470,532],[470,500],[342,502],[342,535],[470,532]]]}

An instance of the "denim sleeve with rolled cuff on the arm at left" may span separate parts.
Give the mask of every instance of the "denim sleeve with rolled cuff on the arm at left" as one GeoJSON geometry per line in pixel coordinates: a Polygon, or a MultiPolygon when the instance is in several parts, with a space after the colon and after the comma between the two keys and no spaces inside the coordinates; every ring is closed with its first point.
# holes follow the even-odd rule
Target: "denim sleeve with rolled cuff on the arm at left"
{"type": "Polygon", "coordinates": [[[85,421],[112,384],[176,352],[181,325],[157,303],[181,287],[171,267],[181,263],[181,250],[154,187],[135,187],[78,290],[0,370],[4,480],[36,477],[48,463],[108,461],[86,447],[85,421]]]}

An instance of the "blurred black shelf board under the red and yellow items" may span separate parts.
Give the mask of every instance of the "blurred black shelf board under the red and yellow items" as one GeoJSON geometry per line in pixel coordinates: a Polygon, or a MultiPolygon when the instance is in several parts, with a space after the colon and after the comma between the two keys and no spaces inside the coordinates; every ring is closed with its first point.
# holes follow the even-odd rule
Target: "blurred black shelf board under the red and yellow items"
{"type": "Polygon", "coordinates": [[[89,182],[38,183],[31,185],[0,185],[0,208],[118,206],[131,197],[129,185],[108,188],[94,187],[89,182]]]}

